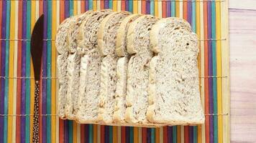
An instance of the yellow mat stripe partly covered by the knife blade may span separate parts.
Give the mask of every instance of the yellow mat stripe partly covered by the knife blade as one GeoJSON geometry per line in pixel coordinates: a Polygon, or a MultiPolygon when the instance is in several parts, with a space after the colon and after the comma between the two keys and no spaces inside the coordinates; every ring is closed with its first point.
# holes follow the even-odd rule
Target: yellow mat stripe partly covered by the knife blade
{"type": "MultiPolygon", "coordinates": [[[[31,1],[31,31],[35,25],[36,19],[36,6],[35,1],[31,1]]],[[[30,77],[34,77],[34,69],[32,66],[32,59],[30,58],[30,77]]],[[[34,100],[35,100],[35,80],[32,79],[30,82],[30,114],[34,114],[34,100]]],[[[33,130],[33,117],[30,117],[30,131],[33,130]]],[[[30,142],[32,142],[32,132],[30,132],[30,142]]]]}

